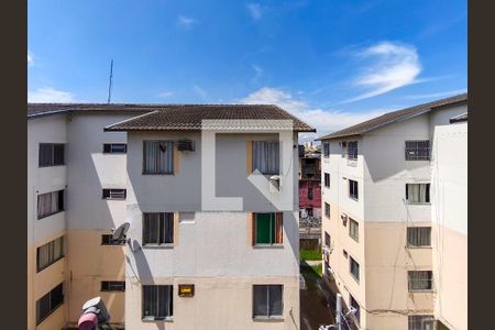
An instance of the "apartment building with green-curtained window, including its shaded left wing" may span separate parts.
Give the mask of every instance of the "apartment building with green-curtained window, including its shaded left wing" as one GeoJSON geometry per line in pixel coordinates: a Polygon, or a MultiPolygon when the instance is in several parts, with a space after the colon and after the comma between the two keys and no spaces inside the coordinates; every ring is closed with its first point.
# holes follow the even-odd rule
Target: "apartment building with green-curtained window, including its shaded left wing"
{"type": "Polygon", "coordinates": [[[275,106],[29,105],[28,118],[29,329],[74,324],[96,296],[128,329],[299,328],[297,139],[312,128],[275,106]],[[204,120],[220,123],[213,148],[204,120]]]}

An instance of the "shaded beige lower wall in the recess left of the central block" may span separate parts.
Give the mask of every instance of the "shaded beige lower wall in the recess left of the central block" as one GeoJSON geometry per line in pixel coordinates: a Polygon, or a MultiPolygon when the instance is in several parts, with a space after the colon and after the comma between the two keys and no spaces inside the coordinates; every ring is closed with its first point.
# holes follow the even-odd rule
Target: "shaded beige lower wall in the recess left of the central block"
{"type": "Polygon", "coordinates": [[[100,292],[101,280],[124,280],[124,246],[101,245],[103,230],[68,230],[67,289],[70,293],[68,320],[77,322],[82,305],[100,296],[112,323],[124,321],[125,293],[100,292]]]}

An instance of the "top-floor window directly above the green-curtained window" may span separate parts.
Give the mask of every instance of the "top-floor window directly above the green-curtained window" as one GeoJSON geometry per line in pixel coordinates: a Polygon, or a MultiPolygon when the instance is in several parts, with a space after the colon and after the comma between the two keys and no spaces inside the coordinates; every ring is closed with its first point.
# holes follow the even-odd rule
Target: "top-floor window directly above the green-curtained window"
{"type": "Polygon", "coordinates": [[[253,141],[253,169],[262,174],[279,174],[279,142],[253,141]]]}

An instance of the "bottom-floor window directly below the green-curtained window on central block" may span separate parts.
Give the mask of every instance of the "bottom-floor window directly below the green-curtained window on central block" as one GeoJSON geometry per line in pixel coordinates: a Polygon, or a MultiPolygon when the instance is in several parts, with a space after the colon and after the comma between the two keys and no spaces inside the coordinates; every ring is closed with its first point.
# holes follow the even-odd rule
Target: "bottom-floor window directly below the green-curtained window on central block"
{"type": "Polygon", "coordinates": [[[280,318],[283,294],[283,285],[253,285],[253,318],[280,318]]]}

